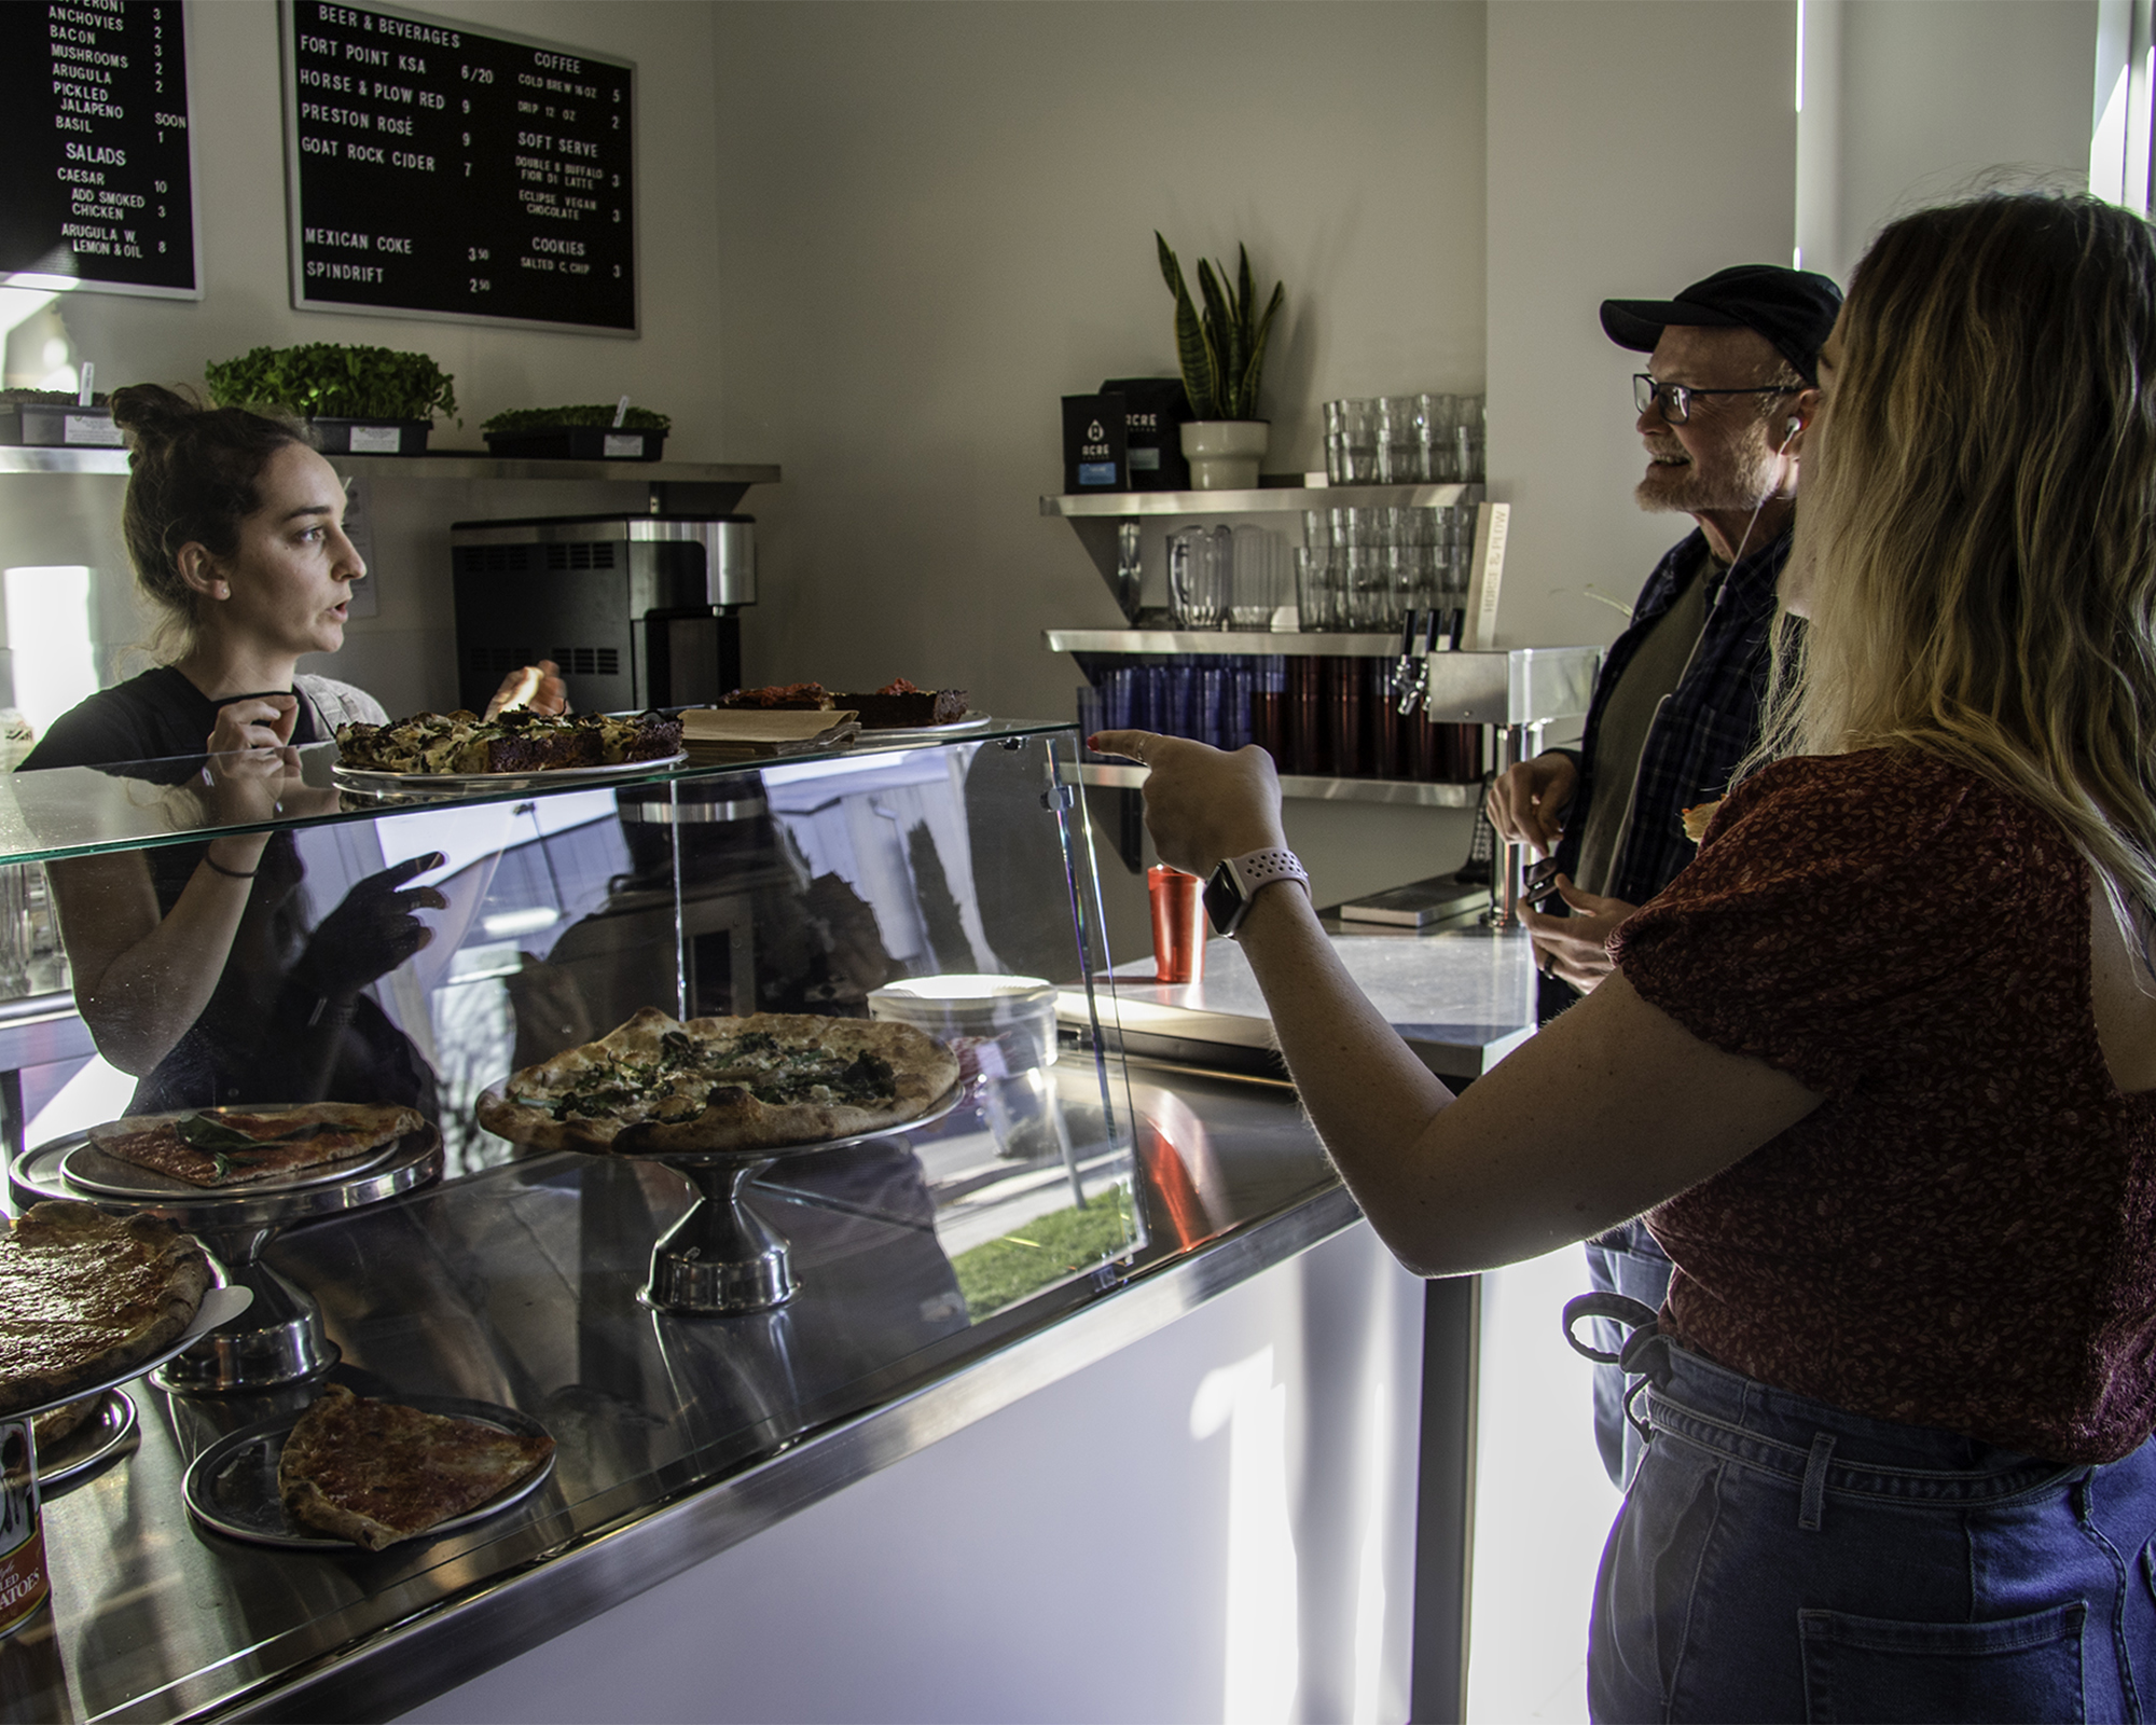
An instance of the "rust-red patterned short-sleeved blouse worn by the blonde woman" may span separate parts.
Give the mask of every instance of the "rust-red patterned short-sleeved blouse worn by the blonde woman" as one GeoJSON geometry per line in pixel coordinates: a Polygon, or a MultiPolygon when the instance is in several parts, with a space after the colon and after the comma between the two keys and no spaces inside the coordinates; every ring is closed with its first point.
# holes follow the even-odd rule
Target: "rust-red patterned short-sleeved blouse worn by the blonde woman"
{"type": "Polygon", "coordinates": [[[1781,761],[1611,942],[1826,1102],[1647,1216],[1664,1328],[1850,1412],[2111,1462],[2156,1427],[2156,1091],[2104,1070],[2089,867],[1915,750],[1781,761]]]}

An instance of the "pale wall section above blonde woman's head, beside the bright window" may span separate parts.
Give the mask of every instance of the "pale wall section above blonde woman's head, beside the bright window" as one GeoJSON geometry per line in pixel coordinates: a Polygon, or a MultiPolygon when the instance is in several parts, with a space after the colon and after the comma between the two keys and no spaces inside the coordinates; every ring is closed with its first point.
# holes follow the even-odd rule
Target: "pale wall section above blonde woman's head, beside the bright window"
{"type": "Polygon", "coordinates": [[[2096,0],[1809,0],[1805,263],[1846,280],[1882,222],[1996,175],[2089,175],[2096,0]]]}

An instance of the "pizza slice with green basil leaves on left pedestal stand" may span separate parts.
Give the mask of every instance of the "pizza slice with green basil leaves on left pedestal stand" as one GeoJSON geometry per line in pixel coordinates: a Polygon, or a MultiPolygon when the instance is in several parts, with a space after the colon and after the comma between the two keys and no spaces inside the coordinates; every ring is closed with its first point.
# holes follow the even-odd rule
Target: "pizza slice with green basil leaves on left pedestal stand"
{"type": "Polygon", "coordinates": [[[425,1123],[416,1108],[395,1104],[313,1102],[274,1113],[205,1108],[198,1115],[136,1115],[93,1126],[91,1143],[119,1162],[190,1186],[224,1188],[345,1162],[425,1123]]]}

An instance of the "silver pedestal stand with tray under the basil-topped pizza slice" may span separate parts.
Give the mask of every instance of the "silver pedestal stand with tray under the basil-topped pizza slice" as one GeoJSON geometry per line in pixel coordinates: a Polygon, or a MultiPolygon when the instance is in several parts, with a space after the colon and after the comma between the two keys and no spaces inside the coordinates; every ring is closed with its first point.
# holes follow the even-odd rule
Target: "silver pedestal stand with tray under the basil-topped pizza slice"
{"type": "Polygon", "coordinates": [[[321,1333],[315,1296],[263,1264],[270,1242],[289,1227],[407,1192],[440,1171],[442,1134],[433,1126],[349,1162],[306,1169],[289,1182],[229,1190],[190,1186],[112,1160],[91,1145],[88,1132],[69,1132],[17,1156],[9,1190],[17,1210],[41,1199],[95,1203],[112,1212],[142,1210],[185,1229],[222,1259],[233,1287],[250,1289],[252,1302],[151,1374],[153,1384],[177,1395],[220,1395],[315,1378],[343,1356],[321,1333]]]}

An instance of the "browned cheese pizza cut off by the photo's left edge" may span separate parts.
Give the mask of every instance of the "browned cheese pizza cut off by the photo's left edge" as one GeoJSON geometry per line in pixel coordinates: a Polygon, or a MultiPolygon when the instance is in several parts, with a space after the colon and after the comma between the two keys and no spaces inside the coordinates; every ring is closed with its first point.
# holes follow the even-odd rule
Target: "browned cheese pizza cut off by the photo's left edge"
{"type": "Polygon", "coordinates": [[[209,1259],[153,1216],[39,1203],[0,1236],[0,1414],[129,1376],[181,1337],[209,1259]]]}

